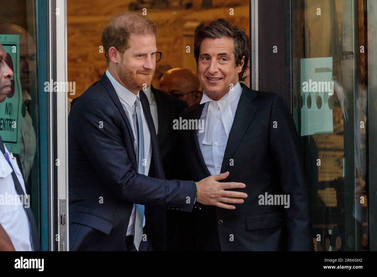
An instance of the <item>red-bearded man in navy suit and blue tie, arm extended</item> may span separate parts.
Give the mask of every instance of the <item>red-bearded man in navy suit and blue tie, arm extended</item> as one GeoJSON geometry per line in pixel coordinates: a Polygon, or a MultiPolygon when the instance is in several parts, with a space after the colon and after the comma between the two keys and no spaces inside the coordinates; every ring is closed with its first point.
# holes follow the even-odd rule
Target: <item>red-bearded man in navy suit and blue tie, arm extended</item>
{"type": "MultiPolygon", "coordinates": [[[[163,250],[166,209],[203,203],[232,209],[245,184],[166,181],[147,96],[156,66],[156,25],[133,12],[104,28],[107,71],[68,117],[70,250],[163,250]]],[[[197,180],[196,180],[197,181],[197,180]]]]}

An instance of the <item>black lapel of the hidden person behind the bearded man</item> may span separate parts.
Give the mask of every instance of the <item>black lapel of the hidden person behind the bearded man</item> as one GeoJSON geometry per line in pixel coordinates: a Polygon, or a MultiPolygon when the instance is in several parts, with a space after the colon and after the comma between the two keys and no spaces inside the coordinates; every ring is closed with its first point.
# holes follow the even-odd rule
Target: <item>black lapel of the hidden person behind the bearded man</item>
{"type": "Polygon", "coordinates": [[[158,144],[161,148],[162,143],[165,141],[165,136],[168,133],[167,128],[169,127],[169,124],[172,125],[173,122],[169,122],[170,118],[170,111],[168,107],[166,106],[166,103],[164,103],[164,100],[162,99],[160,93],[151,86],[151,91],[156,99],[157,104],[157,118],[158,118],[158,144]]]}

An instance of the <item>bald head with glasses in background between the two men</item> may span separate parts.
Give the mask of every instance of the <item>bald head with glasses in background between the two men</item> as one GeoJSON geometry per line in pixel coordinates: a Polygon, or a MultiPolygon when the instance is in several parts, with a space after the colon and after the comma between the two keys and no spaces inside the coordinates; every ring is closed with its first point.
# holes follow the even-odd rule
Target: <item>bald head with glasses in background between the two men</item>
{"type": "Polygon", "coordinates": [[[159,89],[187,102],[189,106],[202,98],[199,80],[194,73],[185,68],[173,68],[162,75],[159,89]]]}

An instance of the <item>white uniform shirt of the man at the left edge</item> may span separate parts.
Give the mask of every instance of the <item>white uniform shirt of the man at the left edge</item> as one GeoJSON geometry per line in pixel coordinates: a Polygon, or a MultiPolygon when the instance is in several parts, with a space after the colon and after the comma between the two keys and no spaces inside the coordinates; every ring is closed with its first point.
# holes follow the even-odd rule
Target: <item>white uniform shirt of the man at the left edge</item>
{"type": "MultiPolygon", "coordinates": [[[[25,183],[17,162],[11,158],[6,147],[5,152],[8,153],[9,161],[15,170],[23,191],[25,192],[25,183]]],[[[11,174],[12,171],[11,166],[0,151],[0,224],[11,239],[16,251],[32,251],[32,237],[28,215],[20,201],[14,202],[14,200],[19,197],[14,186],[11,174]],[[10,202],[9,197],[13,199],[12,203],[10,202]]],[[[30,205],[30,198],[28,200],[30,205]]],[[[31,207],[28,209],[31,209],[31,207]]]]}

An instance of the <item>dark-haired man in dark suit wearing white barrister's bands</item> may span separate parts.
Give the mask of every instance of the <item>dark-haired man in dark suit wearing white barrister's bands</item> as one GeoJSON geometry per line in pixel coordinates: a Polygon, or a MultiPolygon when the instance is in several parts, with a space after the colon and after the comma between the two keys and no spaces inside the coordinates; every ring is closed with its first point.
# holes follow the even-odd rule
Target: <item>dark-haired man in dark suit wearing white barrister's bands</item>
{"type": "Polygon", "coordinates": [[[181,233],[189,233],[182,240],[196,250],[312,250],[294,121],[280,96],[239,83],[248,47],[247,35],[224,19],[195,35],[198,78],[205,91],[201,103],[181,116],[204,120],[205,129],[181,131],[188,170],[194,180],[229,171],[226,180],[244,182],[246,188],[236,191],[248,198],[235,210],[199,204],[194,223],[181,225],[181,233]],[[187,243],[190,238],[195,243],[187,243]]]}

